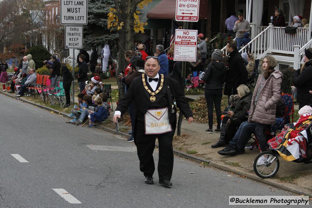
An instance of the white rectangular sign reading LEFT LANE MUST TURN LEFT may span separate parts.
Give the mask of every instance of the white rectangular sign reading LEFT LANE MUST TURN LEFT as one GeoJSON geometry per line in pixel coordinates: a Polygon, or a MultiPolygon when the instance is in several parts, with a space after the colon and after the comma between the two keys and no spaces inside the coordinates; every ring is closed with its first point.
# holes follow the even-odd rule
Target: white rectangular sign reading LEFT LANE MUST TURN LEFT
{"type": "Polygon", "coordinates": [[[88,24],[87,0],[61,0],[60,10],[62,25],[88,24]]]}

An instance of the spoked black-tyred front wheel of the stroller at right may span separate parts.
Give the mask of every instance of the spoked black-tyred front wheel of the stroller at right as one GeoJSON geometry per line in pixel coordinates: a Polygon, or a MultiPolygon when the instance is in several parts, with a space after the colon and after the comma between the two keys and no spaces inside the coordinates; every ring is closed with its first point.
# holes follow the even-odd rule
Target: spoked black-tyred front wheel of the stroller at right
{"type": "Polygon", "coordinates": [[[253,168],[257,176],[261,178],[271,178],[275,176],[280,168],[278,152],[265,151],[257,155],[253,168]]]}

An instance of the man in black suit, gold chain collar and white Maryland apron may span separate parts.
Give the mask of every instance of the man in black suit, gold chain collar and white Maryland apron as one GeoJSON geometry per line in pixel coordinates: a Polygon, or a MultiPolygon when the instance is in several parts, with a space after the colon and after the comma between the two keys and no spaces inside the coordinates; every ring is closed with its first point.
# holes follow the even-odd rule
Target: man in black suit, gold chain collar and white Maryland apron
{"type": "Polygon", "coordinates": [[[134,100],[136,105],[134,143],[140,160],[140,171],[145,183],[154,184],[155,164],[153,152],[156,138],[159,143],[158,176],[163,186],[170,182],[173,170],[172,141],[177,123],[177,107],[193,121],[193,113],[181,92],[180,85],[172,78],[159,75],[158,57],[148,56],[144,65],[145,74],[135,78],[126,95],[120,100],[113,121],[124,114],[134,100]]]}

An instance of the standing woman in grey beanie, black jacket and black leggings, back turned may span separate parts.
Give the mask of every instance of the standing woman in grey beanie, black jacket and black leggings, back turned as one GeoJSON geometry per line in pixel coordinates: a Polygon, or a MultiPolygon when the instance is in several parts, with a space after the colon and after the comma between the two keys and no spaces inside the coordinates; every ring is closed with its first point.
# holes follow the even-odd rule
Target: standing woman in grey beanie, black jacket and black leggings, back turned
{"type": "Polygon", "coordinates": [[[213,105],[216,109],[217,114],[217,129],[215,132],[221,132],[221,99],[222,99],[222,88],[225,82],[227,68],[221,60],[222,51],[216,49],[212,55],[212,63],[207,66],[205,70],[205,76],[202,79],[205,84],[205,98],[208,109],[208,125],[209,128],[205,130],[207,133],[212,133],[213,123],[213,105]]]}

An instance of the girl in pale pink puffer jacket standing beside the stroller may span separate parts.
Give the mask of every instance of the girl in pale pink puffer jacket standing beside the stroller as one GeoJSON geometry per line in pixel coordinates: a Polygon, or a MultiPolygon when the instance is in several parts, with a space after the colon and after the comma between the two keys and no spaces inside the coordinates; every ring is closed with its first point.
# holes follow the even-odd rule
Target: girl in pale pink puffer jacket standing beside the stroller
{"type": "Polygon", "coordinates": [[[267,124],[275,123],[276,103],[280,99],[283,74],[279,70],[274,70],[276,65],[274,57],[264,57],[262,61],[264,73],[259,75],[249,110],[248,122],[256,123],[255,134],[261,151],[267,149],[265,127],[267,124]]]}

